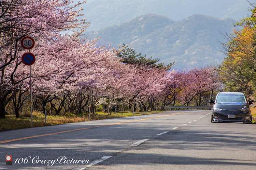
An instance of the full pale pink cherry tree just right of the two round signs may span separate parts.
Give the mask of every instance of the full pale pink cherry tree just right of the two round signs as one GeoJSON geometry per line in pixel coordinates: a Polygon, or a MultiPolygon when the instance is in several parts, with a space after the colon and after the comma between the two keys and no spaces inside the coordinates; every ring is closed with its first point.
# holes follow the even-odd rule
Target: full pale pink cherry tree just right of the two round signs
{"type": "MultiPolygon", "coordinates": [[[[116,53],[122,50],[115,50],[111,46],[97,48],[97,39],[85,40],[84,43],[79,38],[73,39],[67,35],[58,39],[60,41],[53,43],[53,47],[45,47],[42,62],[35,65],[38,69],[34,73],[34,89],[41,96],[42,106],[50,102],[56,114],[61,111],[69,95],[88,94],[89,91],[90,95],[99,95],[99,91],[105,88],[109,80],[108,75],[114,71],[114,65],[120,63],[116,53]],[[44,72],[54,74],[40,76],[42,63],[45,65],[44,72]],[[52,103],[57,96],[61,96],[61,100],[58,98],[58,108],[52,103]]],[[[88,104],[88,99],[88,95],[80,98],[78,112],[88,104]],[[84,100],[85,104],[82,104],[84,100]]]]}

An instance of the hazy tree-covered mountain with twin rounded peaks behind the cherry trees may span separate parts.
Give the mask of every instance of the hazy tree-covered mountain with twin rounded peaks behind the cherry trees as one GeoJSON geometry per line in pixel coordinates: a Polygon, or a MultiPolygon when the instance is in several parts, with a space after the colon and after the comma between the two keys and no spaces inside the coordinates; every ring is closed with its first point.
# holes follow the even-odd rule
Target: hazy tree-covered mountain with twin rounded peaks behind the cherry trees
{"type": "Polygon", "coordinates": [[[221,33],[231,33],[235,20],[218,19],[196,14],[174,21],[168,17],[145,14],[135,19],[87,32],[85,37],[98,40],[99,45],[118,48],[130,44],[138,53],[159,58],[162,63],[175,61],[172,69],[193,69],[218,64],[224,58],[218,41],[225,42],[221,33]]]}

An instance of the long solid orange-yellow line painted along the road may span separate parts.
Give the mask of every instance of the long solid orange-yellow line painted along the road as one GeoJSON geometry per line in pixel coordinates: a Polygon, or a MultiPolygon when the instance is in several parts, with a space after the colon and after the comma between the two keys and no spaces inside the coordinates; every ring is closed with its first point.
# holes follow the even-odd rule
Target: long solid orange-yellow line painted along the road
{"type": "MultiPolygon", "coordinates": [[[[182,113],[184,113],[184,112],[182,112],[182,113]]],[[[179,114],[182,114],[182,113],[176,113],[176,114],[165,115],[165,116],[179,115],[179,114]]],[[[62,132],[48,133],[48,134],[43,134],[43,135],[28,136],[28,137],[24,137],[24,138],[17,138],[17,139],[10,139],[10,140],[3,140],[3,141],[0,141],[0,144],[8,143],[8,142],[13,142],[13,141],[17,141],[17,140],[41,137],[41,136],[48,136],[48,135],[55,135],[55,134],[60,134],[60,133],[66,133],[66,132],[73,132],[73,131],[80,131],[80,130],[85,130],[85,129],[91,129],[91,128],[98,128],[98,127],[102,127],[102,126],[109,126],[109,125],[115,125],[115,124],[122,124],[122,123],[129,123],[129,122],[153,119],[153,118],[158,118],[158,117],[164,117],[164,116],[156,116],[156,117],[151,117],[151,118],[146,118],[146,119],[131,120],[131,121],[127,121],[127,122],[119,122],[119,123],[105,124],[105,125],[99,125],[99,126],[91,126],[91,127],[88,127],[88,128],[73,129],[73,130],[69,130],[69,131],[62,131],[62,132]]]]}

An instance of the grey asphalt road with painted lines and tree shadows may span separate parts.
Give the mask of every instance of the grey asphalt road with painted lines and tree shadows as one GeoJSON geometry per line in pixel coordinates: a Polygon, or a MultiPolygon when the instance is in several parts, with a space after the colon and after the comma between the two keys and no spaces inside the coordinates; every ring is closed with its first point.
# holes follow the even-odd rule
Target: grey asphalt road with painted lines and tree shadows
{"type": "Polygon", "coordinates": [[[256,169],[255,150],[255,124],[168,111],[0,132],[0,169],[256,169]]]}

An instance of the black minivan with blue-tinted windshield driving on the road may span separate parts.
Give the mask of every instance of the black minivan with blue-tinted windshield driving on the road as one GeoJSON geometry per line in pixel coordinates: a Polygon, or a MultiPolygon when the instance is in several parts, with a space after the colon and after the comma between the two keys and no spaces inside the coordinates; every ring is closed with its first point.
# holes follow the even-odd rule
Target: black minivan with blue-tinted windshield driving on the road
{"type": "Polygon", "coordinates": [[[248,122],[252,123],[252,113],[241,92],[219,92],[213,103],[211,122],[248,122]]]}

